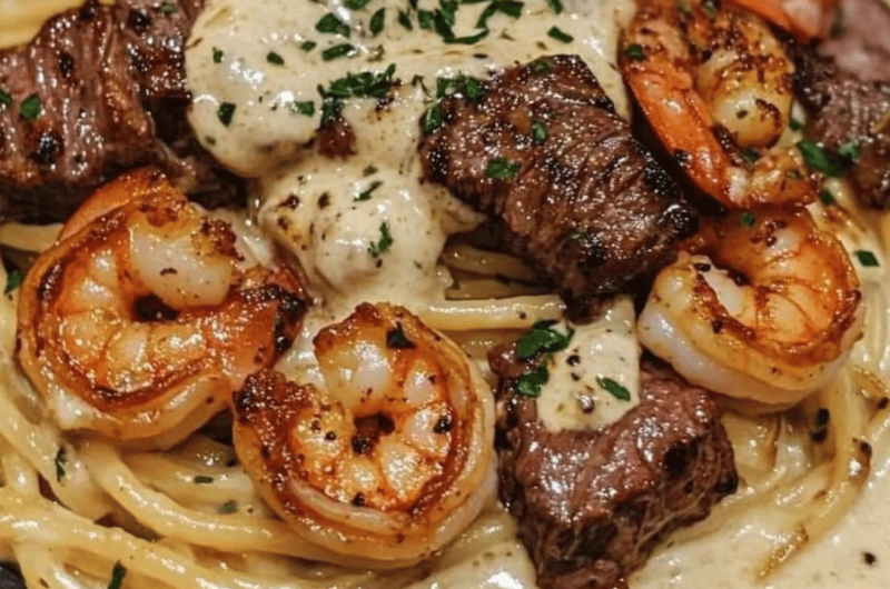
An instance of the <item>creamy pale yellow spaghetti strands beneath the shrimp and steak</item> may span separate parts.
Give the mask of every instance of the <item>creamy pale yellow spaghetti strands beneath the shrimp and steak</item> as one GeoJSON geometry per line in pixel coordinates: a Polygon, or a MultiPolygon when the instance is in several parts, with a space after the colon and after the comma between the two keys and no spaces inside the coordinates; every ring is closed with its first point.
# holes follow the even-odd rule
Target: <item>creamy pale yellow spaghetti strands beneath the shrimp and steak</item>
{"type": "MultiPolygon", "coordinates": [[[[31,9],[0,0],[0,47],[27,39],[46,14],[71,3],[31,9]]],[[[890,446],[890,218],[872,219],[842,183],[833,192],[848,217],[837,223],[814,204],[820,223],[848,249],[869,243],[880,253],[879,269],[862,278],[864,337],[838,378],[798,408],[758,416],[743,401],[725,401],[743,487],[710,519],[680,532],[672,548],[731,535],[758,510],[781,511],[781,535],[754,567],[761,580],[781,575],[843,520],[872,461],[890,446]],[[830,420],[821,423],[821,415],[830,420]],[[813,423],[822,428],[819,436],[813,423]]],[[[59,229],[0,224],[0,248],[27,266],[59,229]]],[[[486,377],[494,346],[564,315],[560,297],[515,258],[449,242],[437,270],[453,286],[421,316],[461,345],[486,377]]],[[[8,278],[0,266],[0,283],[8,278]]],[[[506,579],[501,587],[535,587],[515,526],[495,503],[431,561],[367,572],[368,562],[354,559],[343,568],[342,557],[294,533],[259,498],[229,446],[195,433],[169,451],[118,448],[62,432],[17,366],[17,297],[12,290],[0,300],[0,561],[18,562],[29,587],[103,588],[116,570],[126,570],[130,588],[423,589],[495,586],[498,576],[506,579]]]]}

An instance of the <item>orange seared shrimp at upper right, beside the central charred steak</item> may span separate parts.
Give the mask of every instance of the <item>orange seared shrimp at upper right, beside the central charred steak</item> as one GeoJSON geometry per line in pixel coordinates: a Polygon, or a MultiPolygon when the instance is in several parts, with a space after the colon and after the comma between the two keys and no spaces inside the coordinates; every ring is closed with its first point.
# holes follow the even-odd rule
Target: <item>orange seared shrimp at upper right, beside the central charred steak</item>
{"type": "Polygon", "coordinates": [[[769,27],[706,0],[641,0],[621,67],[655,133],[692,182],[730,208],[803,204],[817,179],[793,146],[794,66],[769,27]]]}

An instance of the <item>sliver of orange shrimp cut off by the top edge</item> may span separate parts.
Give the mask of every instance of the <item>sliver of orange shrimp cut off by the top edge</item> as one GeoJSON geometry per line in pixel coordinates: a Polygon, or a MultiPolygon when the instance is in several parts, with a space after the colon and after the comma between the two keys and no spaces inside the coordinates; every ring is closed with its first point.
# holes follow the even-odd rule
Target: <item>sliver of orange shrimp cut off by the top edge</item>
{"type": "Polygon", "coordinates": [[[731,0],[785,29],[799,41],[827,37],[838,19],[840,0],[731,0]]]}

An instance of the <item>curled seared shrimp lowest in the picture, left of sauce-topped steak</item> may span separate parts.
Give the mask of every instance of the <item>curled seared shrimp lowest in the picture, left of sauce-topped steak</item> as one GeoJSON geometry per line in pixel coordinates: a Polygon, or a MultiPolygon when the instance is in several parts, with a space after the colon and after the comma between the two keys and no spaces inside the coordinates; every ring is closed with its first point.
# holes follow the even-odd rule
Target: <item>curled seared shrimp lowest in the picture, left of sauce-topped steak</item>
{"type": "Polygon", "coordinates": [[[400,307],[363,303],[314,345],[326,387],[264,371],[235,395],[245,470],[298,535],[334,553],[380,568],[429,557],[494,497],[488,386],[400,307]]]}

